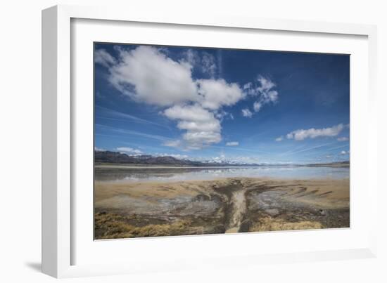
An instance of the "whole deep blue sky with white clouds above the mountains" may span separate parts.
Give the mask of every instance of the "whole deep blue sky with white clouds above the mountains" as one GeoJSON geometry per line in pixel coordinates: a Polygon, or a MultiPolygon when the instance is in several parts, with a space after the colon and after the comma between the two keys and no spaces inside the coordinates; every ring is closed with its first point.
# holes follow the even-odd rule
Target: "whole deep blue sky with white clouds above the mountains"
{"type": "Polygon", "coordinates": [[[96,150],[247,163],[349,159],[349,55],[94,47],[96,150]]]}

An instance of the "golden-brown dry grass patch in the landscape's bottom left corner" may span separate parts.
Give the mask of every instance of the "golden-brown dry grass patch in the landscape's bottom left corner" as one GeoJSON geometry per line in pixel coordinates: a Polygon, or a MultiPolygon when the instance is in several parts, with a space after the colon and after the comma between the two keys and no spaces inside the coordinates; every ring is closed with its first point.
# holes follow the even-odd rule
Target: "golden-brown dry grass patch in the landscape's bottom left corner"
{"type": "Polygon", "coordinates": [[[127,218],[115,213],[95,214],[96,239],[187,235],[190,225],[190,221],[176,221],[135,227],[127,223],[127,218]]]}

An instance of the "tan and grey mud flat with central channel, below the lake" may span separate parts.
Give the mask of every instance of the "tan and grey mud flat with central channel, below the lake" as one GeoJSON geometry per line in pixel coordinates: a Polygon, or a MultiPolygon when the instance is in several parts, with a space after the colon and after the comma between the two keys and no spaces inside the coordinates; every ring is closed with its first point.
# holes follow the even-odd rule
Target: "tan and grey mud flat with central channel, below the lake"
{"type": "Polygon", "coordinates": [[[94,237],[348,228],[349,180],[96,182],[94,237]]]}

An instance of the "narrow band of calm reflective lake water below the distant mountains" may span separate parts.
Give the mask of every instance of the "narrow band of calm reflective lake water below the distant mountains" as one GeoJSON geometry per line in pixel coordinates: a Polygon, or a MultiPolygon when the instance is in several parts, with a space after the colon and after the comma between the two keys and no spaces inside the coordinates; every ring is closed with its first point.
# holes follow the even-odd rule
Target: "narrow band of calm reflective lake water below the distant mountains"
{"type": "Polygon", "coordinates": [[[181,180],[214,180],[218,178],[291,178],[343,179],[350,177],[348,167],[257,166],[213,168],[106,168],[96,167],[95,180],[135,182],[176,182],[181,180]]]}

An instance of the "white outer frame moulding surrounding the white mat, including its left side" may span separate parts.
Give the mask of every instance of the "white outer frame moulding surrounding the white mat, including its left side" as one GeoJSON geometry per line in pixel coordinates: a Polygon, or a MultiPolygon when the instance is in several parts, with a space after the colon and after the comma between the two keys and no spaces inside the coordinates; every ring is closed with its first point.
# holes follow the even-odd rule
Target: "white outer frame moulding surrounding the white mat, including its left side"
{"type": "MultiPolygon", "coordinates": [[[[376,26],[296,20],[272,20],[230,15],[179,15],[139,13],[120,8],[54,6],[42,11],[42,270],[53,277],[114,275],[140,272],[126,265],[70,265],[71,258],[71,166],[70,166],[70,19],[125,20],[179,25],[239,27],[296,32],[365,35],[369,43],[369,164],[377,164],[376,151],[376,26]]],[[[366,135],[364,135],[366,136],[366,135]]],[[[375,165],[376,166],[376,165],[375,165]]],[[[372,197],[372,223],[368,249],[321,251],[249,256],[251,264],[329,261],[376,256],[376,170],[369,168],[369,192],[372,197]]],[[[225,267],[227,263],[218,263],[225,267]]],[[[236,266],[238,261],[231,266],[236,266]]],[[[203,261],[199,268],[205,268],[203,261]]],[[[212,268],[214,263],[211,263],[212,268]]],[[[227,266],[228,267],[228,266],[227,266]]],[[[174,270],[186,269],[177,263],[174,270]]],[[[198,268],[198,266],[194,267],[198,268]]],[[[151,271],[151,270],[149,270],[151,271]]],[[[172,271],[172,270],[170,270],[172,271]]]]}

